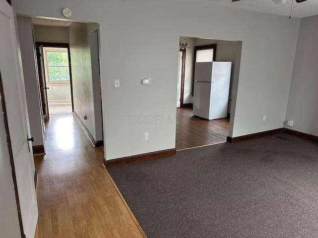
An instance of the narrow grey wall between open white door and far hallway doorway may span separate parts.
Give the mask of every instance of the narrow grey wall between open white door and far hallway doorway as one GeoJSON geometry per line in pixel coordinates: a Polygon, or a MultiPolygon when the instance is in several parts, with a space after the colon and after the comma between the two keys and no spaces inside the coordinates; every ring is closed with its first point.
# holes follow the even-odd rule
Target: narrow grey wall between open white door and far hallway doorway
{"type": "Polygon", "coordinates": [[[30,17],[17,16],[17,26],[21,49],[22,67],[25,83],[26,102],[29,112],[32,145],[44,145],[41,102],[35,61],[34,41],[30,17]]]}

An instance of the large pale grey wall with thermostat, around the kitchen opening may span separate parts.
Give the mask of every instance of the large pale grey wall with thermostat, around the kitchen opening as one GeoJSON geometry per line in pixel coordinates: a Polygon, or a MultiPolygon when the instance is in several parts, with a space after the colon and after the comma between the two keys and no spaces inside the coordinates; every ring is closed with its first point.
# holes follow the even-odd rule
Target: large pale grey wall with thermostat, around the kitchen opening
{"type": "MultiPolygon", "coordinates": [[[[16,3],[17,13],[56,18],[65,7],[50,0],[16,3]]],[[[68,7],[72,19],[100,23],[107,160],[175,147],[175,121],[168,119],[176,115],[179,36],[242,41],[230,136],[283,126],[299,19],[178,0],[94,3],[69,0],[68,7]],[[141,85],[143,77],[151,77],[152,85],[141,85]],[[149,115],[162,120],[129,120],[149,115]]]]}

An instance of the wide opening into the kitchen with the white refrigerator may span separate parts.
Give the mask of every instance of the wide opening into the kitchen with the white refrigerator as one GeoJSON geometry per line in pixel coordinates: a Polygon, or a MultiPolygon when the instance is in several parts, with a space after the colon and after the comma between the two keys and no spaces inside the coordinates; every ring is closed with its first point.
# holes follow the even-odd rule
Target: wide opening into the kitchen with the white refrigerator
{"type": "MultiPolygon", "coordinates": [[[[235,74],[235,67],[239,65],[239,59],[237,59],[237,42],[236,41],[223,41],[223,40],[213,40],[213,39],[201,39],[201,38],[192,38],[192,37],[180,37],[180,42],[186,42],[187,48],[184,49],[184,65],[183,65],[183,95],[182,105],[177,108],[177,116],[176,116],[176,150],[183,150],[198,146],[206,146],[216,143],[226,142],[227,136],[230,131],[230,117],[231,117],[231,109],[232,109],[232,99],[234,98],[233,93],[233,82],[234,78],[238,78],[238,73],[235,74]],[[197,105],[195,97],[198,98],[198,93],[208,92],[207,101],[209,98],[211,99],[212,92],[212,84],[210,90],[205,90],[207,87],[203,87],[204,90],[195,91],[195,65],[196,62],[211,62],[212,65],[214,61],[223,61],[228,62],[228,66],[230,65],[230,71],[228,71],[228,85],[226,89],[224,88],[226,85],[222,86],[220,91],[224,91],[223,101],[220,102],[221,99],[217,97],[219,104],[222,104],[222,115],[216,118],[205,118],[200,115],[195,115],[193,112],[193,107],[201,107],[202,104],[197,105]],[[229,63],[232,62],[232,63],[229,63]]],[[[178,64],[178,72],[180,72],[180,52],[179,52],[179,64],[178,64]]],[[[212,66],[211,66],[212,67],[212,66]]],[[[212,73],[212,70],[211,70],[212,73]]],[[[199,73],[198,73],[199,74],[199,73]]],[[[178,81],[180,80],[180,74],[178,73],[178,81]]],[[[202,85],[208,85],[201,84],[202,85]]],[[[179,86],[179,82],[178,82],[179,86]]],[[[201,95],[202,96],[202,95],[201,95]]],[[[179,97],[177,90],[177,99],[179,97]]],[[[199,97],[200,98],[200,97],[199,97]]],[[[202,98],[202,97],[201,97],[202,98]]],[[[198,103],[198,102],[197,102],[198,103]]],[[[213,105],[211,103],[211,105],[213,105]]],[[[178,105],[177,105],[178,106],[178,105]]],[[[208,107],[211,111],[211,107],[208,107]]]]}

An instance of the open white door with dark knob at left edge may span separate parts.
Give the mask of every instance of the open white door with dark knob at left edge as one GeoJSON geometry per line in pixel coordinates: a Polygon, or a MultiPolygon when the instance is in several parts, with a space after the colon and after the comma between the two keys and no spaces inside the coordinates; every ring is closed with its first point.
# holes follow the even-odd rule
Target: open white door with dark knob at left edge
{"type": "Polygon", "coordinates": [[[17,52],[12,7],[0,0],[0,70],[18,195],[26,238],[34,238],[38,208],[34,185],[34,162],[27,116],[24,82],[17,52]],[[30,143],[30,145],[29,145],[30,143]],[[30,151],[29,151],[30,146],[30,151]]]}

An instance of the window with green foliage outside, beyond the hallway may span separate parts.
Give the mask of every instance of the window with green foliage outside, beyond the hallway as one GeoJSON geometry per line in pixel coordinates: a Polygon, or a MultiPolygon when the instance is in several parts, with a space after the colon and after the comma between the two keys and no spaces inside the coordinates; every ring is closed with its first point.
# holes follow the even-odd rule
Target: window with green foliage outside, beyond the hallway
{"type": "Polygon", "coordinates": [[[67,48],[43,47],[47,82],[70,82],[69,53],[67,48]]]}

